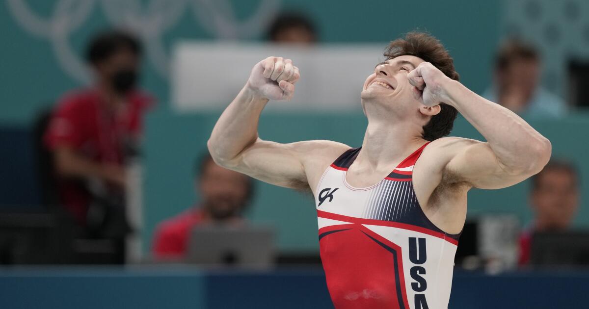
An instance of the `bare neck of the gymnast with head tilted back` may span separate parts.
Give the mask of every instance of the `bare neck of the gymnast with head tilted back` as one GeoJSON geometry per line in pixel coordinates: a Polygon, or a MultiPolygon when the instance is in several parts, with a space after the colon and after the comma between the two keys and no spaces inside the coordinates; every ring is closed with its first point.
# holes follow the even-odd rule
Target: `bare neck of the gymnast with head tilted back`
{"type": "Polygon", "coordinates": [[[390,168],[425,144],[421,130],[419,125],[407,122],[369,120],[356,161],[373,170],[390,168]]]}

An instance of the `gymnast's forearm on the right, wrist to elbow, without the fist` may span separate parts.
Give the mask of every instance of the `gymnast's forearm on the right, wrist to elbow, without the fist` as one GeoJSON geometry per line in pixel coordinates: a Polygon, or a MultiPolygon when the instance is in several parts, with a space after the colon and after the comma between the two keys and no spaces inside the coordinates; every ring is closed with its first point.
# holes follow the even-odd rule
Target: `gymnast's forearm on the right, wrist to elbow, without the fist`
{"type": "Polygon", "coordinates": [[[445,88],[448,104],[487,139],[502,165],[516,172],[537,172],[538,168],[544,167],[550,158],[550,141],[524,119],[457,81],[448,81],[445,88]]]}

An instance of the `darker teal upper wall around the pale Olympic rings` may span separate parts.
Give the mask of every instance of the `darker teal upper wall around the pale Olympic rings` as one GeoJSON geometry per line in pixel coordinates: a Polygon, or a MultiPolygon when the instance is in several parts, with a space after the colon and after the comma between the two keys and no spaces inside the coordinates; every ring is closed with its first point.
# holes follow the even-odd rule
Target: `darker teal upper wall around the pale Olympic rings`
{"type": "MultiPolygon", "coordinates": [[[[498,41],[499,2],[495,1],[315,1],[277,0],[280,8],[309,12],[323,42],[382,42],[383,46],[412,29],[426,29],[449,48],[463,81],[475,91],[489,82],[489,61],[498,41]]],[[[59,1],[24,1],[31,12],[49,19],[59,1]]],[[[214,1],[213,1],[214,2],[214,1]]],[[[109,26],[101,1],[67,37],[81,55],[94,31],[109,26]]],[[[149,1],[141,1],[144,9],[149,1]]],[[[245,19],[260,0],[231,0],[237,18],[245,19]]],[[[51,105],[65,91],[80,87],[60,67],[51,41],[26,31],[0,2],[0,123],[28,124],[39,108],[51,105]]],[[[262,34],[249,39],[259,39],[262,34]]],[[[160,37],[164,52],[182,39],[216,39],[190,8],[160,37]]],[[[144,61],[143,86],[168,109],[168,79],[144,61]]]]}

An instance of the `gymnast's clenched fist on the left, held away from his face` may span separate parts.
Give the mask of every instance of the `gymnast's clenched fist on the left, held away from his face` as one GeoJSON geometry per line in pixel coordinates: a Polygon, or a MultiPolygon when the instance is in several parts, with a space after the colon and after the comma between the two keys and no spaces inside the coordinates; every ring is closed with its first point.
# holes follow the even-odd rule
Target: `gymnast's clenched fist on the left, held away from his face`
{"type": "Polygon", "coordinates": [[[299,77],[299,68],[294,67],[292,60],[268,57],[254,65],[246,86],[264,98],[289,101],[299,77]]]}

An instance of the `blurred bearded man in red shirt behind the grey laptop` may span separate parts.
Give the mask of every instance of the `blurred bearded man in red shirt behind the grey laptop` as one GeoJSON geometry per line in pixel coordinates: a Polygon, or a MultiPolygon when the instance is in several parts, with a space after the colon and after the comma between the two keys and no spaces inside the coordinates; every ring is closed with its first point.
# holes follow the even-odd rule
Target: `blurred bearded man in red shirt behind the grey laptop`
{"type": "Polygon", "coordinates": [[[158,225],[153,241],[158,260],[184,258],[190,232],[197,225],[246,223],[242,214],[252,198],[252,178],[220,167],[206,152],[195,166],[194,188],[201,201],[158,225]]]}

